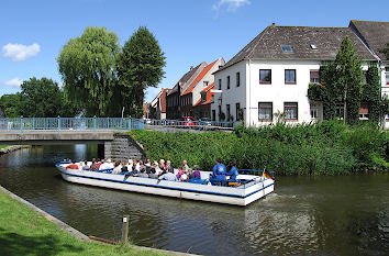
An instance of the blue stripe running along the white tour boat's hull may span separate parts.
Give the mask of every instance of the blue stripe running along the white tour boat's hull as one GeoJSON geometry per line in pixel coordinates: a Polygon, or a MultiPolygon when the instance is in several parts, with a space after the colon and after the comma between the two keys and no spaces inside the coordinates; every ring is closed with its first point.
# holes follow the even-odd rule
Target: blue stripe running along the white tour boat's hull
{"type": "Polygon", "coordinates": [[[74,177],[80,177],[80,178],[87,178],[87,179],[97,179],[97,180],[105,180],[105,181],[112,181],[112,182],[118,182],[118,183],[130,183],[130,185],[136,185],[136,186],[143,186],[143,187],[154,187],[154,188],[162,188],[162,189],[170,189],[170,190],[179,190],[179,191],[188,191],[188,192],[196,192],[196,193],[209,193],[209,194],[218,194],[218,196],[224,196],[224,197],[233,197],[233,198],[247,198],[254,193],[257,193],[270,186],[274,186],[274,182],[265,186],[256,191],[253,191],[246,196],[238,196],[238,194],[231,194],[231,193],[219,193],[219,192],[211,192],[211,191],[202,191],[202,190],[192,190],[192,189],[184,189],[184,188],[171,188],[171,187],[166,187],[166,186],[159,186],[159,185],[149,185],[149,183],[138,183],[138,182],[131,182],[131,181],[124,181],[124,180],[114,180],[114,179],[104,179],[104,178],[98,178],[98,177],[88,177],[88,176],[82,176],[82,175],[74,175],[74,174],[68,174],[65,171],[60,171],[64,175],[68,176],[74,176],[74,177]]]}

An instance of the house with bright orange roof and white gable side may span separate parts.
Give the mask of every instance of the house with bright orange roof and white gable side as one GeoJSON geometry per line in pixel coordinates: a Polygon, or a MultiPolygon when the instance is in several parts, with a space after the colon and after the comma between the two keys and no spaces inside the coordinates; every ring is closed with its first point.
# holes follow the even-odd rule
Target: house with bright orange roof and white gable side
{"type": "Polygon", "coordinates": [[[181,100],[181,113],[184,116],[194,116],[196,119],[204,118],[203,115],[210,116],[211,110],[208,113],[203,111],[194,112],[194,105],[201,100],[201,91],[213,84],[213,73],[219,69],[220,66],[224,65],[224,58],[220,57],[213,63],[207,65],[201,73],[194,78],[188,88],[182,92],[181,100]]]}

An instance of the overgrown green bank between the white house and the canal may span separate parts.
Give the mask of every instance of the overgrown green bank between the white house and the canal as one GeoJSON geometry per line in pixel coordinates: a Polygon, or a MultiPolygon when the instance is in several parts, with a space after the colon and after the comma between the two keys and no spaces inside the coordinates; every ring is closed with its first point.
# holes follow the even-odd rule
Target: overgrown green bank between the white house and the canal
{"type": "Polygon", "coordinates": [[[387,170],[388,133],[365,124],[349,127],[327,121],[312,125],[277,124],[259,129],[237,127],[235,133],[160,133],[133,131],[152,159],[187,159],[211,169],[214,159],[235,160],[241,169],[267,169],[277,175],[343,175],[387,170]]]}

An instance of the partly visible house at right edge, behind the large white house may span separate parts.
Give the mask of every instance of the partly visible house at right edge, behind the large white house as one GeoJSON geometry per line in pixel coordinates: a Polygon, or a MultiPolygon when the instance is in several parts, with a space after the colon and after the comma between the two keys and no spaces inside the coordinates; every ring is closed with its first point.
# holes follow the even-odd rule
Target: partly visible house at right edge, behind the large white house
{"type": "MultiPolygon", "coordinates": [[[[379,59],[381,94],[389,97],[389,59],[380,52],[388,47],[389,22],[352,20],[348,26],[379,59]]],[[[385,126],[389,127],[389,115],[385,121],[385,126]]]]}

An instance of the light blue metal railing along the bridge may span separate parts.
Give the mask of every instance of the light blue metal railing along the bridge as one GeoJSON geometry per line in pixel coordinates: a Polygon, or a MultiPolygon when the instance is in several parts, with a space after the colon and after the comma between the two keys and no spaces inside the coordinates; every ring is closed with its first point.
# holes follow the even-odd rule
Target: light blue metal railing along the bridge
{"type": "Polygon", "coordinates": [[[0,132],[27,131],[131,131],[143,130],[144,122],[131,118],[7,118],[0,119],[0,132]]]}

